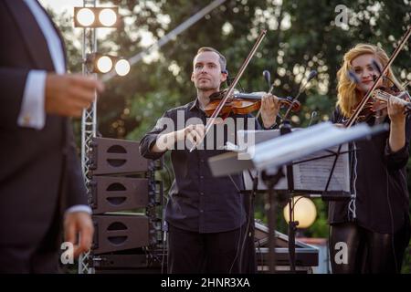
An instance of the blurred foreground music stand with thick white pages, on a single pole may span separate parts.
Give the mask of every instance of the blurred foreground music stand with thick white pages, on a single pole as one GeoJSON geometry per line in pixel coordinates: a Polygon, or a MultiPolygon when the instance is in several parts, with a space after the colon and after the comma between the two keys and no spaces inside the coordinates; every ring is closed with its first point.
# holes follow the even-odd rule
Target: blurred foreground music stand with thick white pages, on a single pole
{"type": "MultiPolygon", "coordinates": [[[[276,184],[279,183],[279,179],[284,175],[282,173],[283,165],[301,160],[315,152],[367,136],[370,137],[385,130],[388,130],[386,124],[380,124],[374,127],[370,127],[367,124],[360,124],[349,129],[342,129],[335,127],[331,122],[323,122],[307,129],[296,130],[287,135],[251,145],[247,148],[247,151],[241,153],[227,152],[208,160],[211,172],[215,176],[245,170],[265,171],[265,181],[269,187],[269,271],[271,273],[275,272],[276,266],[274,236],[276,212],[272,212],[272,207],[275,207],[277,203],[274,190],[276,184]]],[[[340,154],[340,150],[337,151],[336,155],[340,154]]],[[[330,175],[332,175],[332,173],[330,175]]],[[[276,210],[274,209],[274,211],[276,210]]],[[[291,230],[291,234],[292,231],[293,230],[291,230]]],[[[292,242],[290,244],[292,245],[292,242]]],[[[291,254],[292,250],[290,251],[290,256],[294,256],[291,254]]],[[[294,263],[291,263],[291,265],[294,265],[294,263]]]]}

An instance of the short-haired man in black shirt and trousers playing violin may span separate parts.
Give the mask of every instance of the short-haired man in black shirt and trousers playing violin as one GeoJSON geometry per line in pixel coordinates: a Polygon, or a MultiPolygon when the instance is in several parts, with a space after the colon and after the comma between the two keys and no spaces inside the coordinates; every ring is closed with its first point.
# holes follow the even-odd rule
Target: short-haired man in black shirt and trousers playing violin
{"type": "MultiPolygon", "coordinates": [[[[240,265],[243,243],[249,236],[247,224],[250,224],[245,200],[239,193],[244,189],[242,176],[213,177],[207,161],[226,151],[222,144],[232,137],[237,140],[237,130],[272,129],[279,112],[279,100],[271,94],[262,97],[263,127],[251,114],[231,113],[226,120],[219,119],[219,124],[213,125],[205,136],[204,109],[210,95],[218,92],[227,80],[226,58],[215,48],[201,47],[193,60],[191,80],[196,99],[165,111],[153,130],[142,138],[140,146],[142,156],[148,159],[158,159],[171,150],[174,183],[165,210],[168,272],[253,272],[240,265]],[[244,128],[238,129],[241,119],[245,120],[244,128]],[[227,130],[224,124],[228,124],[227,130]],[[217,130],[218,127],[223,130],[217,130]],[[193,143],[198,145],[190,151],[193,143]]],[[[254,254],[254,246],[249,248],[254,254]]]]}

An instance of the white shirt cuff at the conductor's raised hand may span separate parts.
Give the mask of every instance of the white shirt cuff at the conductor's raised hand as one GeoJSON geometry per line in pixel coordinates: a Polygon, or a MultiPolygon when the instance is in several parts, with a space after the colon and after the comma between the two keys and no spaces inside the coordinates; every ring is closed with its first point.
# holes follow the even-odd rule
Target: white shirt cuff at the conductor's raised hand
{"type": "Polygon", "coordinates": [[[17,124],[20,127],[41,130],[46,123],[45,87],[47,72],[30,70],[26,78],[26,86],[17,124]]]}

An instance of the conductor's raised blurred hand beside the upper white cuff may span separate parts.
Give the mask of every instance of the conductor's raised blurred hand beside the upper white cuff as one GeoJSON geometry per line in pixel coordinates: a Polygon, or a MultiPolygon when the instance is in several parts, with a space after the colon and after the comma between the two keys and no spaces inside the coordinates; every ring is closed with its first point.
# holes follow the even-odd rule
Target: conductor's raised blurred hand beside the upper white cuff
{"type": "Polygon", "coordinates": [[[81,75],[47,74],[45,108],[49,114],[80,117],[94,101],[95,90],[102,92],[103,84],[81,75]]]}

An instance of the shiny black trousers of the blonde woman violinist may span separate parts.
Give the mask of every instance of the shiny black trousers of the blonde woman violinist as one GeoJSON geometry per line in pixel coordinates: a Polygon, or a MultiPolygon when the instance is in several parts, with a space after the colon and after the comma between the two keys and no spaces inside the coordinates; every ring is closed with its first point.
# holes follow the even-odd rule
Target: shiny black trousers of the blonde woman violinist
{"type": "Polygon", "coordinates": [[[410,238],[409,225],[395,235],[379,234],[357,224],[333,224],[330,232],[332,273],[400,273],[410,238]],[[346,262],[342,262],[341,244],[346,244],[346,262]]]}

